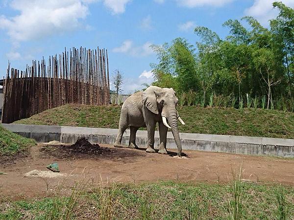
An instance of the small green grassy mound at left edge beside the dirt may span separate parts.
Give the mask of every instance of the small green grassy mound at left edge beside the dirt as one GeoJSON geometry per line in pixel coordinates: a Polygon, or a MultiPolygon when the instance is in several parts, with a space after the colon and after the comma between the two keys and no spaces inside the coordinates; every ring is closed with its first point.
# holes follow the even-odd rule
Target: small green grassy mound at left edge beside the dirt
{"type": "Polygon", "coordinates": [[[0,125],[0,156],[12,156],[24,152],[35,144],[34,140],[7,131],[0,125]]]}

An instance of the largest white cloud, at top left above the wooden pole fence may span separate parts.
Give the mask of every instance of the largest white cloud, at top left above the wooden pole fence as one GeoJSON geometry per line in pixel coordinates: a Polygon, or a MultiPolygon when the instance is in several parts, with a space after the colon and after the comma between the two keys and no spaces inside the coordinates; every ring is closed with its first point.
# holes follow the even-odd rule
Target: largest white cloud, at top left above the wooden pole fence
{"type": "Polygon", "coordinates": [[[0,16],[0,28],[14,41],[28,41],[72,31],[82,27],[80,20],[89,14],[95,0],[12,0],[9,6],[19,11],[14,17],[0,16]]]}

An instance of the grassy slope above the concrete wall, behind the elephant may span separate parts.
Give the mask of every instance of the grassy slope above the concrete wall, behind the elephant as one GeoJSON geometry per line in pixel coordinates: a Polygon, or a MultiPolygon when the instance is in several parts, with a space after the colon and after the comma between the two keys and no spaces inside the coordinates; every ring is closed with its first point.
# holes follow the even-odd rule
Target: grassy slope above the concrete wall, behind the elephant
{"type": "MultiPolygon", "coordinates": [[[[118,128],[120,106],[65,105],[16,124],[118,128]]],[[[294,113],[262,109],[178,107],[181,132],[294,138],[294,113]]]]}

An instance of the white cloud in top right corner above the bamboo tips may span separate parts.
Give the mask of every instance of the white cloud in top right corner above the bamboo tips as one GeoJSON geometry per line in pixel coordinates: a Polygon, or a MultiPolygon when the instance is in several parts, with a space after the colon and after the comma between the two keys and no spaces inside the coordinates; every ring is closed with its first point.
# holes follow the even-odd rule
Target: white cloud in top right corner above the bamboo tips
{"type": "MultiPolygon", "coordinates": [[[[245,15],[256,18],[262,25],[268,26],[269,20],[278,15],[278,11],[273,9],[272,2],[275,0],[254,0],[251,7],[245,9],[245,15]]],[[[294,7],[294,0],[283,0],[289,7],[294,7]]]]}

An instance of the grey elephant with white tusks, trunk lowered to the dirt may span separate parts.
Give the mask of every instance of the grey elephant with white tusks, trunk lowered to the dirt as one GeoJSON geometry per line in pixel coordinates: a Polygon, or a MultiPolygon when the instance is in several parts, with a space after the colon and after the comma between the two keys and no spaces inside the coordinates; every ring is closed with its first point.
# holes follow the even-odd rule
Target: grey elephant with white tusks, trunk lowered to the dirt
{"type": "Polygon", "coordinates": [[[147,150],[155,153],[154,132],[155,125],[159,125],[159,154],[168,154],[166,150],[167,132],[172,134],[177,146],[178,156],[181,156],[182,145],[179,136],[177,119],[185,125],[176,110],[178,99],[173,88],[150,86],[145,91],[139,91],[129,96],[123,103],[119,121],[119,132],[114,147],[124,147],[122,137],[124,131],[130,128],[129,148],[138,148],[136,132],[140,127],[147,128],[147,150]]]}

